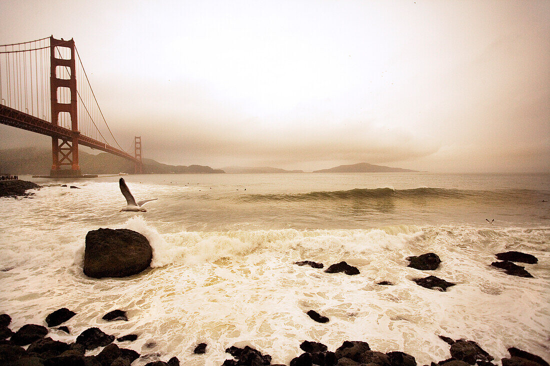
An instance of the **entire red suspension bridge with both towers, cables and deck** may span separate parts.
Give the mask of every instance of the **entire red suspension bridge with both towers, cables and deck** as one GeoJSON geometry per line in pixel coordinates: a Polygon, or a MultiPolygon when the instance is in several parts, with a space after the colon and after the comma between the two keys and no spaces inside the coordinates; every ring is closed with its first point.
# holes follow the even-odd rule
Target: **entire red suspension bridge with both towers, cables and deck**
{"type": "Polygon", "coordinates": [[[133,154],[119,145],[72,39],[0,45],[0,123],[52,137],[52,178],[81,176],[79,145],[131,160],[142,173],[141,137],[133,154]]]}

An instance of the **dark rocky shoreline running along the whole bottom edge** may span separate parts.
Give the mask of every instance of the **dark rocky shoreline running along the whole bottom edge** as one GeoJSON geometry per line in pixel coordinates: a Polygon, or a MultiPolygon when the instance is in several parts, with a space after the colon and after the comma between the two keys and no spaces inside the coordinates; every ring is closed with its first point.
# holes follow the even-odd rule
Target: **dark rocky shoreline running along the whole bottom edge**
{"type": "MultiPolygon", "coordinates": [[[[45,321],[48,327],[53,328],[69,321],[75,315],[69,309],[62,308],[49,314],[45,321]]],[[[113,310],[103,315],[108,321],[128,321],[124,310],[113,310]]],[[[13,366],[130,366],[140,359],[145,366],[178,366],[177,357],[167,361],[160,361],[160,354],[141,355],[128,348],[122,348],[114,343],[135,341],[139,335],[129,334],[122,337],[108,335],[99,328],[89,328],[78,335],[74,342],[65,343],[46,337],[50,329],[43,325],[26,324],[16,332],[9,328],[12,318],[8,314],[0,315],[0,364],[13,366]],[[9,340],[8,340],[9,338],[9,340]],[[24,348],[26,346],[26,349],[24,348]],[[103,347],[95,356],[86,356],[86,352],[103,347]]],[[[55,328],[69,333],[67,326],[55,328]]],[[[496,366],[494,357],[487,353],[476,342],[469,340],[453,340],[439,336],[450,346],[450,358],[442,361],[433,361],[425,366],[496,366]]],[[[365,341],[344,341],[342,346],[329,351],[326,345],[319,342],[303,341],[299,345],[303,353],[293,358],[289,366],[416,366],[414,356],[400,351],[377,352],[371,350],[365,341]]],[[[194,348],[194,354],[204,354],[208,351],[206,343],[199,343],[194,348]]],[[[271,356],[263,354],[255,348],[231,346],[226,352],[233,358],[227,358],[221,366],[286,366],[272,364],[271,356]]],[[[544,359],[535,354],[508,348],[509,357],[502,358],[502,366],[549,366],[544,359]]],[[[191,352],[190,352],[190,357],[191,352]]],[[[168,357],[166,357],[168,358],[168,357]]]]}

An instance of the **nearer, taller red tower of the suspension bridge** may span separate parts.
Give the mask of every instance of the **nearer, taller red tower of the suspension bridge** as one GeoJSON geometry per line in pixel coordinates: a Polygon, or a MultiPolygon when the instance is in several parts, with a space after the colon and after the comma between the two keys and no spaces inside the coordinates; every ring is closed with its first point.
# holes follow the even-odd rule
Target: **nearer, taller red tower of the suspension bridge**
{"type": "MultiPolygon", "coordinates": [[[[63,52],[67,54],[67,52],[63,52]]],[[[60,75],[61,76],[61,73],[60,75]]],[[[59,114],[69,113],[71,121],[72,137],[52,136],[52,169],[50,176],[74,177],[81,176],[78,163],[78,139],[80,132],[78,130],[78,112],[76,100],[76,61],[74,40],[69,41],[56,40],[50,37],[50,94],[51,94],[51,112],[52,124],[59,125],[59,114]],[[59,58],[56,57],[56,47],[59,58]],[[59,51],[60,48],[68,48],[70,58],[63,59],[59,51]],[[69,79],[57,77],[57,66],[64,67],[69,75],[69,79]],[[58,88],[65,87],[70,90],[70,102],[61,103],[57,99],[58,88]],[[61,141],[61,142],[60,142],[61,141]],[[62,165],[70,165],[70,169],[61,169],[62,165]]]]}

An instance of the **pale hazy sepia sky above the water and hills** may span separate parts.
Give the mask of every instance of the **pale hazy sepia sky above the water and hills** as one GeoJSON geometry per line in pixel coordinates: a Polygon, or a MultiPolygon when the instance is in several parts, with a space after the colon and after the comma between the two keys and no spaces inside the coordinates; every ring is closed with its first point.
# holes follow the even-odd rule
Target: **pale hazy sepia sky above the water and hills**
{"type": "Polygon", "coordinates": [[[550,1],[0,0],[0,44],[52,34],[163,163],[550,171],[550,1]]]}

